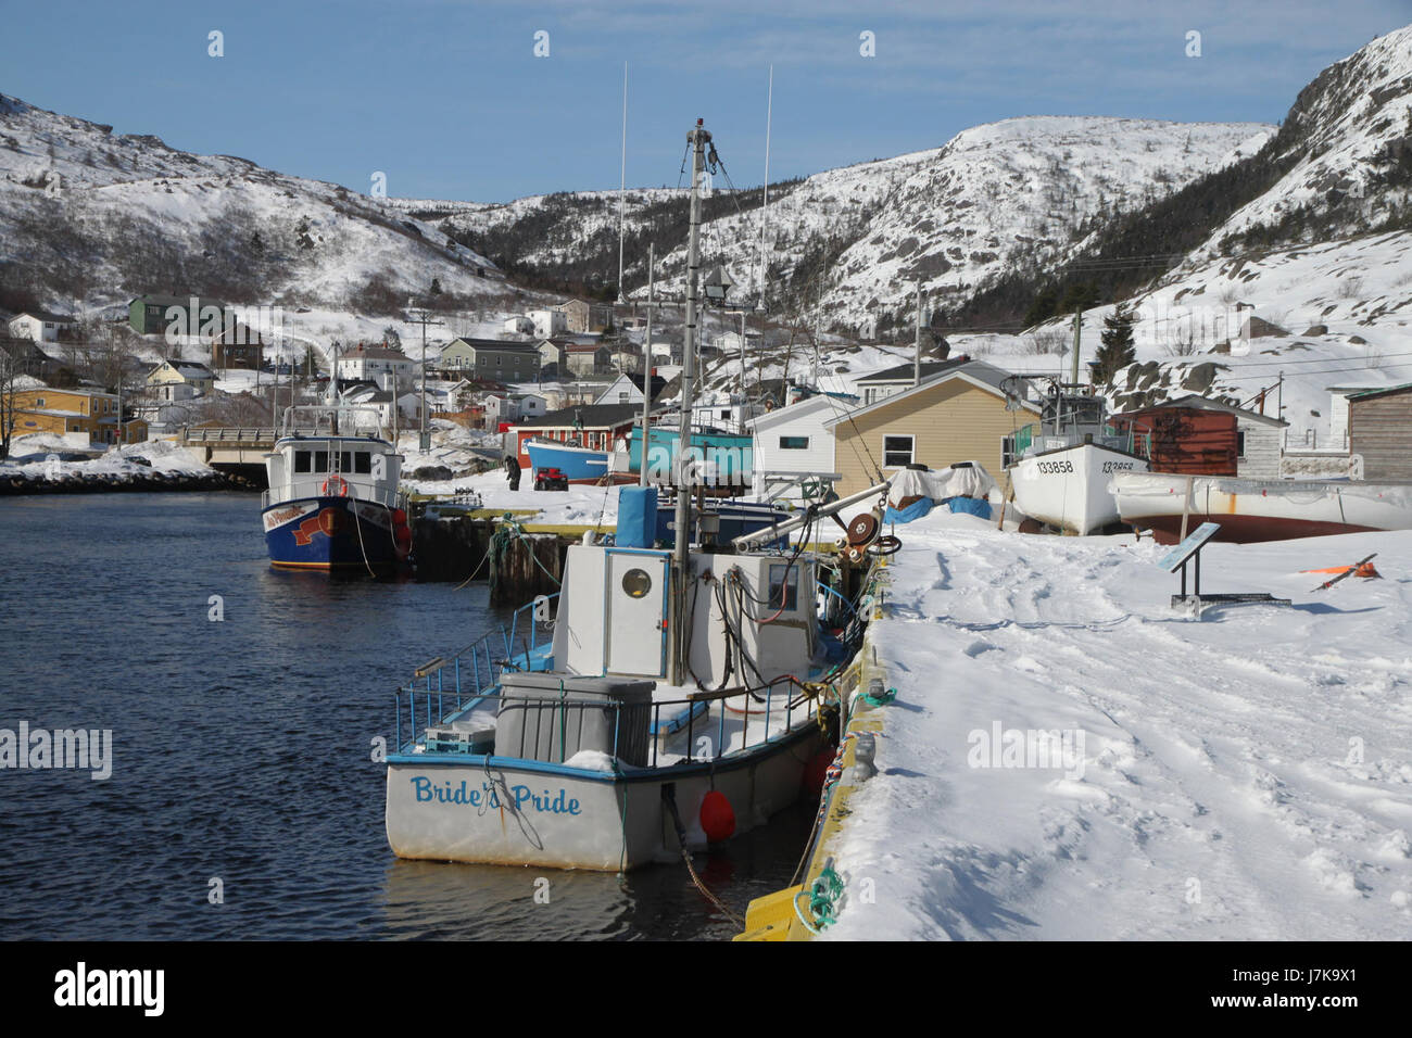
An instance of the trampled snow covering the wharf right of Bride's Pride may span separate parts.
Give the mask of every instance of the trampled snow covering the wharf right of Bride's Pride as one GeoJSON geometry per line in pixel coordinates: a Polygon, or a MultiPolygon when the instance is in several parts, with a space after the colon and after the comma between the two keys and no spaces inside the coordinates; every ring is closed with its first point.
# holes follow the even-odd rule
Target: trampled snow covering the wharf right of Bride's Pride
{"type": "Polygon", "coordinates": [[[1151,542],[898,534],[874,631],[898,699],[827,847],[827,938],[1412,933],[1412,532],[1213,544],[1204,590],[1293,606],[1200,620],[1151,542]],[[1299,572],[1371,552],[1385,579],[1299,572]],[[1070,753],[1014,767],[1031,730],[1070,753]]]}

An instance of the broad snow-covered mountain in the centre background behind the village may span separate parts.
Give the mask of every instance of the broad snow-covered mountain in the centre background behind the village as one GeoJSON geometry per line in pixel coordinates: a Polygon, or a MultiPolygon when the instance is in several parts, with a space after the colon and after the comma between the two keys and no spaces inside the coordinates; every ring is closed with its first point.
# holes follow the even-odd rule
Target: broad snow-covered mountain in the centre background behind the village
{"type": "MultiPolygon", "coordinates": [[[[726,267],[737,297],[764,295],[772,312],[818,306],[826,325],[871,338],[911,319],[911,281],[925,280],[940,306],[1003,274],[1063,261],[1090,227],[1254,154],[1274,131],[1262,123],[1007,119],[940,148],[771,185],[768,210],[760,189],[716,191],[703,250],[707,264],[726,267]]],[[[716,143],[729,154],[729,129],[716,129],[716,143]]],[[[685,193],[627,192],[630,295],[645,297],[648,239],[662,291],[683,292],[685,193]]],[[[465,203],[441,226],[486,254],[513,250],[504,258],[515,264],[597,275],[604,288],[616,282],[617,192],[465,203]]]]}

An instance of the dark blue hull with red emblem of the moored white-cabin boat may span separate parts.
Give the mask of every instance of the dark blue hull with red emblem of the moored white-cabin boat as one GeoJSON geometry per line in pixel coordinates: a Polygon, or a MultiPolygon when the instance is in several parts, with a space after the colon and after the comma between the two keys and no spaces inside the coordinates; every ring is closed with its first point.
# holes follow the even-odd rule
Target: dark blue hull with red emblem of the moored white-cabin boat
{"type": "Polygon", "coordinates": [[[305,497],[260,513],[270,563],[282,569],[388,569],[402,563],[393,508],[353,497],[305,497]]]}

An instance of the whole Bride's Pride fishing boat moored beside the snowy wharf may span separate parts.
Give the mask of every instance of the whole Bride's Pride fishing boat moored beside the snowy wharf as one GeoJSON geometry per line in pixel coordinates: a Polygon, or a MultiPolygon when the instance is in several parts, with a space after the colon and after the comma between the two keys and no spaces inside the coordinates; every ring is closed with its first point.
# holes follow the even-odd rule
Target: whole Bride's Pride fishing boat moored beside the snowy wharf
{"type": "MultiPolygon", "coordinates": [[[[689,404],[710,134],[698,121],[688,140],[689,404]]],[[[690,493],[690,407],[679,438],[671,549],[654,547],[657,487],[621,489],[614,544],[570,545],[558,595],[398,689],[385,789],[397,856],[614,871],[689,863],[688,849],[801,797],[847,713],[878,579],[870,545],[856,563],[806,547],[830,510],[881,503],[887,484],[723,541],[714,501],[690,493]],[[791,534],[794,548],[767,547],[791,534]]]]}

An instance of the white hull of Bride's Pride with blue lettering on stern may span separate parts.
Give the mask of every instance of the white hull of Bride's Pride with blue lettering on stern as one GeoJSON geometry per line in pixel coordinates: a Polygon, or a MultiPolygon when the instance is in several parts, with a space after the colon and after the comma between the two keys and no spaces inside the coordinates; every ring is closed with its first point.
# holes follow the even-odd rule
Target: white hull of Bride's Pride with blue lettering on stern
{"type": "Polygon", "coordinates": [[[791,806],[822,736],[806,724],[716,761],[585,771],[539,761],[456,754],[388,760],[387,840],[407,859],[618,871],[679,856],[662,801],[671,784],[688,847],[706,846],[700,805],[710,789],[736,812],[736,832],[791,806]]]}

